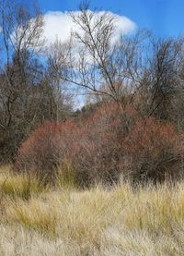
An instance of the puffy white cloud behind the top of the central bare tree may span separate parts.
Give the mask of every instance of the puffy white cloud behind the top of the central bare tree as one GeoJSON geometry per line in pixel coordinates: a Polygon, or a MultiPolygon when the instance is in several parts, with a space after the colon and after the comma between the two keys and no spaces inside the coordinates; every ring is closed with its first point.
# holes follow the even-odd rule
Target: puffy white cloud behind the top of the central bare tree
{"type": "MultiPolygon", "coordinates": [[[[78,11],[75,11],[77,14],[78,11]]],[[[99,15],[101,12],[97,12],[96,15],[99,15]]],[[[126,34],[135,30],[136,25],[130,18],[119,16],[109,12],[110,15],[113,15],[115,18],[115,37],[120,34],[126,34]]],[[[77,27],[74,27],[72,18],[70,18],[67,12],[47,12],[44,15],[44,37],[47,42],[54,43],[55,39],[59,39],[62,42],[67,40],[70,36],[71,30],[79,30],[77,27]]]]}

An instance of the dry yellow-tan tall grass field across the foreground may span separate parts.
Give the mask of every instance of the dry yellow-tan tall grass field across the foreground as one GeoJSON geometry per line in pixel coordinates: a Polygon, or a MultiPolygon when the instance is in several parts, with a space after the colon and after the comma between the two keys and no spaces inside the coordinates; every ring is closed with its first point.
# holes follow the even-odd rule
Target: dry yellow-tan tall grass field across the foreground
{"type": "Polygon", "coordinates": [[[184,255],[184,183],[44,187],[0,171],[0,255],[184,255]]]}

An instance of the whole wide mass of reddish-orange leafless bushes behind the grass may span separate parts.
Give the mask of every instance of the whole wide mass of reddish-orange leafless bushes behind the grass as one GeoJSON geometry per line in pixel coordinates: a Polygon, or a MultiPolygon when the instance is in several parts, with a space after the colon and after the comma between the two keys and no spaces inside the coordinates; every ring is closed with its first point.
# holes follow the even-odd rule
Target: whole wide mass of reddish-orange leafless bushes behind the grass
{"type": "Polygon", "coordinates": [[[55,177],[57,166],[70,163],[82,185],[116,182],[120,175],[140,180],[177,176],[183,150],[179,135],[154,118],[146,122],[130,107],[104,105],[87,118],[46,123],[22,143],[16,167],[55,177]],[[177,173],[176,173],[177,171],[177,173]]]}

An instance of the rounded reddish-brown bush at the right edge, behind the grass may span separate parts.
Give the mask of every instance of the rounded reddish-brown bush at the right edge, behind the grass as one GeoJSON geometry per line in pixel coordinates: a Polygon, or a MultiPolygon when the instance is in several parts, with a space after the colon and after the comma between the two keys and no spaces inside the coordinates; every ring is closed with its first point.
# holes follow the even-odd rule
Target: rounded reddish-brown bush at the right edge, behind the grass
{"type": "Polygon", "coordinates": [[[151,117],[146,121],[136,120],[123,143],[129,159],[126,168],[131,171],[132,179],[163,181],[178,177],[183,158],[183,149],[178,147],[180,138],[171,124],[151,117]]]}

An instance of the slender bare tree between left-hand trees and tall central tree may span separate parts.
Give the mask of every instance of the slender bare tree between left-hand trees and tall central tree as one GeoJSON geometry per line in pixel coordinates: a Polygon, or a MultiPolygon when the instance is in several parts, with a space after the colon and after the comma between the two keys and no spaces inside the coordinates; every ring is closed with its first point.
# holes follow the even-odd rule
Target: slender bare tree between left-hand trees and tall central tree
{"type": "Polygon", "coordinates": [[[63,119],[74,104],[74,89],[67,81],[61,79],[67,68],[67,60],[71,55],[71,42],[61,43],[58,39],[49,47],[47,77],[54,94],[54,112],[56,120],[63,119]]]}

